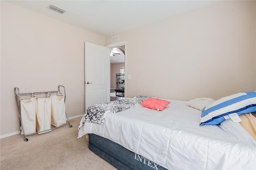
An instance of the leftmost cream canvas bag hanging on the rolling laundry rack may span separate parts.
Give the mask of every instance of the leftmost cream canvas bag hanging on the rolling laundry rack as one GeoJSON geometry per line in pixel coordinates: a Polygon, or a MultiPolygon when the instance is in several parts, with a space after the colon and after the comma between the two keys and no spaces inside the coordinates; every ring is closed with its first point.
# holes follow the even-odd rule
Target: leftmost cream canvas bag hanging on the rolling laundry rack
{"type": "MultiPolygon", "coordinates": [[[[20,116],[25,134],[36,132],[36,97],[31,99],[22,99],[20,101],[20,116]]],[[[23,133],[22,126],[20,127],[23,133]]]]}

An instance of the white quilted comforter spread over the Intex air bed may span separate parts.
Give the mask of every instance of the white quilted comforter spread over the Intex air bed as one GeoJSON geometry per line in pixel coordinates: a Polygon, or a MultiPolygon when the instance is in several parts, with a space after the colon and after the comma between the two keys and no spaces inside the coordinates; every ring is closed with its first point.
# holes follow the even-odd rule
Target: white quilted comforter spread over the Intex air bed
{"type": "Polygon", "coordinates": [[[163,110],[141,105],[108,113],[105,125],[85,123],[78,138],[94,133],[173,169],[256,169],[256,142],[239,123],[200,127],[201,111],[169,100],[163,110]]]}

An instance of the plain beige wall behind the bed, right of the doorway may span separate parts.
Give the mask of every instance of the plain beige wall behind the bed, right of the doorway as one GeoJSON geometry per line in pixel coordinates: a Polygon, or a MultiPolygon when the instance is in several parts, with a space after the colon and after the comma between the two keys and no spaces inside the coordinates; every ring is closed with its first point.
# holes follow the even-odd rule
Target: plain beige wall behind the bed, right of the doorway
{"type": "Polygon", "coordinates": [[[127,97],[219,99],[256,90],[255,11],[255,1],[224,1],[116,34],[127,41],[127,97]]]}

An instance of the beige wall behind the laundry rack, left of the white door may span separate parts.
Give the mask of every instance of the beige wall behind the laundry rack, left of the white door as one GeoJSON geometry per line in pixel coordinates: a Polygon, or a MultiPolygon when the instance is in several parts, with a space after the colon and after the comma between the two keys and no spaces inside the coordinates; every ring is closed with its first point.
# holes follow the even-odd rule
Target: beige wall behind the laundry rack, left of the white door
{"type": "Polygon", "coordinates": [[[105,45],[104,40],[1,1],[1,136],[20,127],[14,87],[29,93],[64,85],[68,117],[83,114],[84,42],[105,45]]]}

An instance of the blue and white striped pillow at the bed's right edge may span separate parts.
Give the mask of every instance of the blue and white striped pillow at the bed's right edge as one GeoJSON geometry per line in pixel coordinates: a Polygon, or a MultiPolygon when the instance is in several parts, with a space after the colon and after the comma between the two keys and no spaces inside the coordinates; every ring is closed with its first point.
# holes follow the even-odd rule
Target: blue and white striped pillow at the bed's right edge
{"type": "Polygon", "coordinates": [[[222,97],[206,105],[201,114],[201,125],[217,125],[225,120],[224,116],[231,113],[241,115],[256,111],[256,91],[237,93],[222,97]]]}

